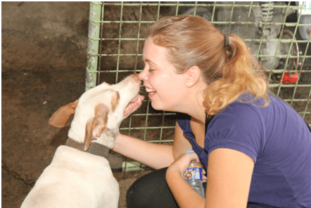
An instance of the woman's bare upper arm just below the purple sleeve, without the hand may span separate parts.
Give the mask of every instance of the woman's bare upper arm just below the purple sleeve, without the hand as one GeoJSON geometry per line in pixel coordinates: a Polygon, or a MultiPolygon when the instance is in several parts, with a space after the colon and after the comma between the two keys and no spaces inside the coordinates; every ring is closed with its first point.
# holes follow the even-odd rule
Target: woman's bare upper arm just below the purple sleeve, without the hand
{"type": "Polygon", "coordinates": [[[208,157],[205,207],[246,207],[255,162],[234,149],[215,149],[208,157]]]}

